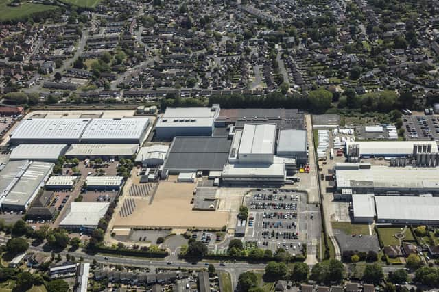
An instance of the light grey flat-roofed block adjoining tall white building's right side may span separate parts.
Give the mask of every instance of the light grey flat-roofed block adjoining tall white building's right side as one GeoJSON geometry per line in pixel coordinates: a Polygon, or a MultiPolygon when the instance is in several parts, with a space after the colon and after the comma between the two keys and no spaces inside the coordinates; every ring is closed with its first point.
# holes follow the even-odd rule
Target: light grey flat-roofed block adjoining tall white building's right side
{"type": "Polygon", "coordinates": [[[308,155],[307,130],[279,130],[277,155],[296,157],[296,163],[306,164],[308,155]]]}

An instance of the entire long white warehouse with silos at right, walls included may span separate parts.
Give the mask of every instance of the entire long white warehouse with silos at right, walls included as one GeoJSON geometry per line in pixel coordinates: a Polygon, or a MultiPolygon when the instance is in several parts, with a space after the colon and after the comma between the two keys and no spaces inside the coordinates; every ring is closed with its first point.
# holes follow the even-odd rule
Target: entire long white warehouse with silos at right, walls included
{"type": "Polygon", "coordinates": [[[348,157],[407,157],[417,153],[437,153],[434,141],[348,141],[348,157]]]}

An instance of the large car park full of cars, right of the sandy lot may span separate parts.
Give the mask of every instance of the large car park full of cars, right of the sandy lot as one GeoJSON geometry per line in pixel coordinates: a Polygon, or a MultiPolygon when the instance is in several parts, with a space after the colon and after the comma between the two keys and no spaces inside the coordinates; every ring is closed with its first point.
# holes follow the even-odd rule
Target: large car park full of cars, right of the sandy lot
{"type": "Polygon", "coordinates": [[[313,245],[320,236],[320,211],[307,204],[307,195],[293,189],[261,189],[246,198],[249,209],[246,241],[259,248],[302,252],[302,245],[313,245]]]}

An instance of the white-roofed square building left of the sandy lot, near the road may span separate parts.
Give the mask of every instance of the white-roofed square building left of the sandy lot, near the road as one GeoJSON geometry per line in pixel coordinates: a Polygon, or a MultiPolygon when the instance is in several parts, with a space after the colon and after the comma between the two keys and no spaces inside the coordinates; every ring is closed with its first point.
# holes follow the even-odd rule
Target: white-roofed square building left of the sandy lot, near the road
{"type": "Polygon", "coordinates": [[[69,213],[60,222],[60,226],[97,228],[99,220],[104,217],[109,206],[108,202],[72,202],[69,213]]]}

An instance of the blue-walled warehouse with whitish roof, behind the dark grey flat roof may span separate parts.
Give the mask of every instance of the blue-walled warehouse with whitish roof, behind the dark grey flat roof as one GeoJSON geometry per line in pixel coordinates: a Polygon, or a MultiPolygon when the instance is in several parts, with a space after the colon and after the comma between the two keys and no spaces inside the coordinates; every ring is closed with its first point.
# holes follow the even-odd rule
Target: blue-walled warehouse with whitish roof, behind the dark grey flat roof
{"type": "Polygon", "coordinates": [[[168,107],[156,123],[156,139],[170,140],[176,136],[211,136],[219,105],[209,107],[168,107]]]}

